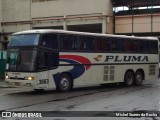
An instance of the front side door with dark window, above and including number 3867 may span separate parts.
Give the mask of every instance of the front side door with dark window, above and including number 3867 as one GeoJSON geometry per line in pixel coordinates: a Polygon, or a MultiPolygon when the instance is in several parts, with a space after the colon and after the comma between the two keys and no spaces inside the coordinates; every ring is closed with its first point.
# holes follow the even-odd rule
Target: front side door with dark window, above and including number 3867
{"type": "Polygon", "coordinates": [[[38,84],[40,88],[48,88],[50,83],[53,82],[51,79],[51,73],[58,67],[59,54],[53,50],[43,50],[39,52],[38,57],[38,84]]]}

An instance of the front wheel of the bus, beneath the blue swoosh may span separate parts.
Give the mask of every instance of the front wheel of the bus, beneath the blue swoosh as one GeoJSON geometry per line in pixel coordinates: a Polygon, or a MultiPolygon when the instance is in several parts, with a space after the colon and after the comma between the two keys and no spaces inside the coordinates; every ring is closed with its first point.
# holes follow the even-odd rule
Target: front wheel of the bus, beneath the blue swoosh
{"type": "Polygon", "coordinates": [[[58,80],[57,90],[59,92],[68,92],[72,89],[72,79],[67,74],[62,74],[58,80]]]}

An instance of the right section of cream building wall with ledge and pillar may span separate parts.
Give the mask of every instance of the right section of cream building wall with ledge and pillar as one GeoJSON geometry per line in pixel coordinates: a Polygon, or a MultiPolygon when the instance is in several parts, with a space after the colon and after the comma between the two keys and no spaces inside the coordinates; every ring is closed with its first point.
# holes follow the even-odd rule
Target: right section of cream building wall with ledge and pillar
{"type": "Polygon", "coordinates": [[[111,18],[87,18],[87,19],[67,19],[34,23],[32,27],[63,26],[65,25],[84,25],[102,24],[103,33],[112,33],[112,2],[111,0],[55,0],[48,2],[36,2],[31,4],[32,19],[55,18],[56,16],[94,16],[108,15],[111,18]]]}

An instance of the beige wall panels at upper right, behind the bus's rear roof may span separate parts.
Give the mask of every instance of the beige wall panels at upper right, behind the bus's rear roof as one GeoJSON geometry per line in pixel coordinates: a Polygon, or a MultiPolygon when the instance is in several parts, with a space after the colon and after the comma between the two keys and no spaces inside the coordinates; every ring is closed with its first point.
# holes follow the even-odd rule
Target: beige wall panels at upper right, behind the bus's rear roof
{"type": "MultiPolygon", "coordinates": [[[[133,18],[133,32],[159,32],[159,20],[160,14],[153,14],[152,20],[151,15],[135,15],[133,18]]],[[[117,16],[115,18],[115,33],[132,33],[132,16],[117,16]]]]}

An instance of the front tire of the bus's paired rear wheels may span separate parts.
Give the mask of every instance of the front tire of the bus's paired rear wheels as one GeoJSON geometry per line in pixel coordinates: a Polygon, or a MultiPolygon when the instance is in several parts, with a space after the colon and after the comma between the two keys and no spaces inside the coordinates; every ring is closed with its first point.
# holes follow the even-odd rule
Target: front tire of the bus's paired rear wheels
{"type": "Polygon", "coordinates": [[[134,83],[134,73],[132,71],[127,71],[124,76],[124,84],[129,87],[134,83]]]}

